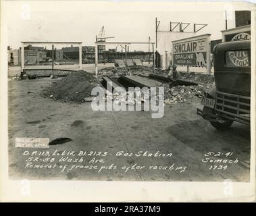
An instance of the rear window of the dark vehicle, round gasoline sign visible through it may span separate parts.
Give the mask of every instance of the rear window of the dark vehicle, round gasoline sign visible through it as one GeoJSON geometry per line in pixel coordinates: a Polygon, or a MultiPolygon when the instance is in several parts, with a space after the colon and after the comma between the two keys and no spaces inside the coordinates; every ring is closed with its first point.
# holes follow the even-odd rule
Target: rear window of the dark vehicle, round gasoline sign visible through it
{"type": "Polygon", "coordinates": [[[251,66],[250,50],[226,51],[226,67],[241,68],[251,66]]]}

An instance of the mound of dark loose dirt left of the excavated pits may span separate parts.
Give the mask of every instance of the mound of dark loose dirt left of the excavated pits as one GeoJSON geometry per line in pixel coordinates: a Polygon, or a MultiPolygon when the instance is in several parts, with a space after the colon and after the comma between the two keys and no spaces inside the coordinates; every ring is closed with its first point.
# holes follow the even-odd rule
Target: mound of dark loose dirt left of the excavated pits
{"type": "Polygon", "coordinates": [[[63,102],[82,103],[84,98],[91,97],[91,90],[99,86],[98,81],[92,74],[79,70],[61,80],[52,82],[47,89],[43,90],[43,96],[63,102]]]}

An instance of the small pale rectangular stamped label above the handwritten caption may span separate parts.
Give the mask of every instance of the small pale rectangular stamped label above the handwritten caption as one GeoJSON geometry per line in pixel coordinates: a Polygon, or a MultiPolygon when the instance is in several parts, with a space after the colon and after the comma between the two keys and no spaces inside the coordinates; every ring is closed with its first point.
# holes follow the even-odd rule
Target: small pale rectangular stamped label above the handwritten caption
{"type": "Polygon", "coordinates": [[[15,146],[18,148],[49,148],[49,142],[49,138],[16,137],[15,146]]]}

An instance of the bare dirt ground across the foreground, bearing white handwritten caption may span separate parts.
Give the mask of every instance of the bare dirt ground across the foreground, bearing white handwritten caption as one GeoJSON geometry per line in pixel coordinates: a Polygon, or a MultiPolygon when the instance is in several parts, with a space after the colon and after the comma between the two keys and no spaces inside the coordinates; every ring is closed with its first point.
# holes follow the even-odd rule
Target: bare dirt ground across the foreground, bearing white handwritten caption
{"type": "Polygon", "coordinates": [[[9,177],[31,180],[105,180],[105,181],[249,181],[250,128],[234,123],[230,130],[217,131],[196,114],[200,100],[193,103],[165,105],[160,119],[151,119],[150,111],[93,111],[91,103],[63,103],[41,97],[41,90],[52,80],[9,80],[9,177]],[[28,94],[28,92],[31,92],[28,94]],[[72,141],[49,148],[16,148],[16,137],[71,138],[72,141]],[[37,151],[31,156],[32,151],[37,151]],[[55,161],[44,162],[49,158],[55,161]],[[69,155],[74,151],[74,156],[69,155]],[[63,164],[72,167],[61,171],[63,164]],[[123,151],[128,156],[116,156],[123,151]],[[147,157],[146,153],[171,156],[147,157]],[[25,153],[30,155],[24,155],[25,153]],[[97,156],[96,154],[101,154],[97,156]],[[107,152],[107,156],[103,156],[107,152]],[[139,156],[134,155],[140,153],[139,156]],[[209,153],[213,152],[213,153],[209,153]],[[232,153],[230,155],[230,152],[232,153]],[[229,153],[228,156],[225,154],[229,153]],[[62,155],[61,155],[62,154],[62,155]],[[94,154],[96,156],[94,156],[94,154]],[[132,154],[132,155],[131,155],[132,154]],[[206,156],[205,156],[206,154],[206,156]],[[131,156],[129,156],[131,155],[131,156]],[[209,157],[207,155],[210,155],[209,157]],[[214,157],[213,157],[214,156],[214,157]],[[26,167],[26,159],[39,157],[31,164],[52,165],[26,167]],[[73,161],[63,163],[61,157],[73,161]],[[102,159],[103,161],[91,161],[102,159]],[[204,163],[209,159],[228,159],[236,163],[204,163]],[[236,160],[237,159],[237,160],[236,160]],[[203,161],[202,161],[203,160],[203,161]],[[91,161],[89,163],[89,161],[91,161]],[[56,165],[55,165],[56,164],[56,165]],[[210,169],[211,165],[226,169],[210,169]],[[55,167],[54,167],[55,165],[55,167]],[[116,169],[115,169],[116,166],[116,169]],[[144,166],[144,167],[143,167],[144,166]],[[151,167],[153,166],[153,167],[151,167]],[[99,167],[103,167],[99,171],[99,167]],[[126,167],[122,169],[122,167],[126,167]],[[130,167],[130,168],[127,168],[130,167]],[[132,167],[134,169],[132,169],[132,167]],[[143,168],[141,168],[143,167],[143,168]],[[152,169],[149,169],[151,167],[152,169]],[[168,167],[163,169],[163,167],[168,167]]]}

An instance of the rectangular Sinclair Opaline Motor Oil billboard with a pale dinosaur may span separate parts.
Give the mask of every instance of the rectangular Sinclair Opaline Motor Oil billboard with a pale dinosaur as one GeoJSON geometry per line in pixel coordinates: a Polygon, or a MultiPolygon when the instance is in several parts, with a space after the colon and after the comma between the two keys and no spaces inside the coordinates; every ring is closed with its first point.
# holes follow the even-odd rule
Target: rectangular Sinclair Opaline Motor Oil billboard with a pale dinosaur
{"type": "Polygon", "coordinates": [[[172,41],[173,63],[195,67],[209,66],[210,34],[172,41]]]}

